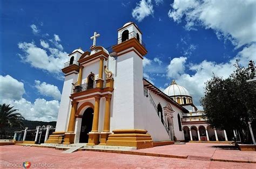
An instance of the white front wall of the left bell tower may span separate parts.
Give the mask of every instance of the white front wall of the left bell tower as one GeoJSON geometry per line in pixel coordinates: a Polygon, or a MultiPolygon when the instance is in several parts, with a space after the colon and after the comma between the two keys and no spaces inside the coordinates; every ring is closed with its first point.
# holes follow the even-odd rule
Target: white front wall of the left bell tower
{"type": "Polygon", "coordinates": [[[69,114],[71,109],[71,100],[69,96],[71,93],[73,93],[72,83],[77,82],[77,76],[78,74],[65,76],[55,131],[66,131],[68,128],[69,114]]]}

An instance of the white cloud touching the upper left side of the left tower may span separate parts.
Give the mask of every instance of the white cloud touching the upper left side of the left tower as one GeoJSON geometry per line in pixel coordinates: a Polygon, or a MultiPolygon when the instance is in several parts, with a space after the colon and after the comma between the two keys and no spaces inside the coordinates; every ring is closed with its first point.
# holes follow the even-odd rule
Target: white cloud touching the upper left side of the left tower
{"type": "Polygon", "coordinates": [[[64,63],[68,61],[68,53],[62,52],[58,48],[49,47],[49,44],[43,40],[41,40],[41,45],[45,47],[45,50],[37,47],[34,42],[19,43],[18,47],[24,52],[21,59],[32,67],[56,74],[59,78],[64,63]]]}

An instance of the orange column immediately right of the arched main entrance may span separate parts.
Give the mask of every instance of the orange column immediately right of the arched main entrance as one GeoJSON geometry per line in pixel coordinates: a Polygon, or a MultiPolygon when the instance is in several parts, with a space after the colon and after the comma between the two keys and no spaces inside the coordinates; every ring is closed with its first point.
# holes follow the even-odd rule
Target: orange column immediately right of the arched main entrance
{"type": "Polygon", "coordinates": [[[92,131],[88,133],[89,140],[87,145],[97,145],[99,143],[99,101],[100,96],[95,96],[95,106],[93,112],[92,131]]]}

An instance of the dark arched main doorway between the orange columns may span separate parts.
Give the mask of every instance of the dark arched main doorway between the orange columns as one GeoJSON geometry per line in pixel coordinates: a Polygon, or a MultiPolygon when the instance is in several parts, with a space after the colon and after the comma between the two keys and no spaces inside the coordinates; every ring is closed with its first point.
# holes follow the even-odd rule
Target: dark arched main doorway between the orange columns
{"type": "Polygon", "coordinates": [[[92,119],[93,109],[90,107],[87,108],[83,114],[79,143],[88,143],[89,136],[87,135],[87,133],[89,133],[92,130],[92,119]]]}

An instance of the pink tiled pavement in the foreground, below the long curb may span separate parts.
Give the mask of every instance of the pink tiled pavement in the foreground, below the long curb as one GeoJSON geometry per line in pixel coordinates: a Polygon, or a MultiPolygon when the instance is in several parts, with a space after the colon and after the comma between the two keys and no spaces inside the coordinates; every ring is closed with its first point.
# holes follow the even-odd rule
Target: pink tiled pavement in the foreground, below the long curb
{"type": "MultiPolygon", "coordinates": [[[[169,148],[165,147],[165,149],[169,148]]],[[[22,164],[24,161],[30,161],[32,165],[39,163],[52,164],[55,168],[256,168],[256,164],[249,163],[137,156],[94,151],[78,151],[70,154],[62,152],[41,147],[0,146],[0,168],[6,166],[5,164],[22,164]]]]}

